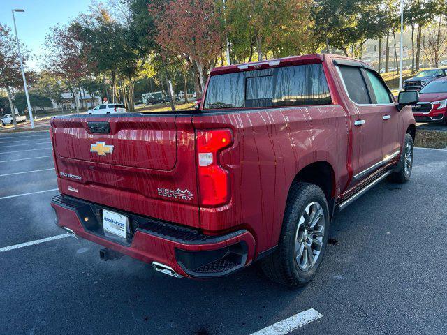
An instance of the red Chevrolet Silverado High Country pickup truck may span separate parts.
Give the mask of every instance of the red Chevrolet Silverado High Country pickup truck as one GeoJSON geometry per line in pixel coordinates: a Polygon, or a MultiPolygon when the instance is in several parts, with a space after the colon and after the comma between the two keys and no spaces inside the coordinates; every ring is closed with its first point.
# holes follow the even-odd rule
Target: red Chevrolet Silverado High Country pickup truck
{"type": "Polygon", "coordinates": [[[335,211],[408,181],[417,102],[365,63],[311,54],[214,68],[200,110],[54,117],[57,225],[103,260],[190,278],[261,260],[305,284],[335,211]]]}

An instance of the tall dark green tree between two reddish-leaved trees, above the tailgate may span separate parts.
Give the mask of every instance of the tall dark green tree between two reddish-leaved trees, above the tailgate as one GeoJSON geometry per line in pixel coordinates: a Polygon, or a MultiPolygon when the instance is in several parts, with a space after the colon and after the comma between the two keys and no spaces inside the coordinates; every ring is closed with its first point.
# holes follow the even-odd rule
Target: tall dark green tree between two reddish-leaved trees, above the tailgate
{"type": "Polygon", "coordinates": [[[110,76],[112,102],[120,97],[133,111],[135,80],[153,45],[149,27],[144,26],[152,21],[146,0],[112,1],[112,9],[115,13],[102,5],[92,6],[89,15],[80,15],[72,25],[82,40],[88,64],[92,64],[91,72],[110,76]],[[121,17],[121,22],[112,17],[121,17]]]}

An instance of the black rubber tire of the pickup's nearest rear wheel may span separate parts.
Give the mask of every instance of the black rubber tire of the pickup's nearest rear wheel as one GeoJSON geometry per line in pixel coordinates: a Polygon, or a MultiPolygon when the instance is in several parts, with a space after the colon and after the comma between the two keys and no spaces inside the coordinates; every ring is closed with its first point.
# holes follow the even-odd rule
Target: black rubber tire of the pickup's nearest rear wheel
{"type": "MultiPolygon", "coordinates": [[[[311,210],[309,209],[310,213],[311,210]]],[[[319,222],[318,226],[321,226],[321,219],[319,222]]],[[[292,287],[306,285],[309,281],[312,281],[328,244],[329,222],[328,202],[321,188],[308,183],[293,184],[288,194],[278,246],[272,254],[261,260],[261,268],[264,274],[272,281],[292,287]],[[297,237],[299,237],[300,229],[305,225],[305,223],[300,224],[300,219],[302,216],[305,217],[305,214],[307,215],[306,209],[311,204],[319,204],[323,212],[323,236],[322,240],[319,241],[321,244],[320,251],[314,265],[305,271],[301,269],[301,265],[298,265],[298,261],[302,260],[302,256],[297,261],[295,248],[298,243],[297,237]]],[[[312,234],[306,234],[307,236],[316,239],[312,234]]],[[[304,239],[304,237],[302,238],[304,239]]],[[[304,245],[305,242],[298,243],[298,245],[300,244],[304,245]]],[[[302,255],[304,255],[307,249],[302,250],[302,255]]],[[[306,258],[308,257],[306,255],[306,258]]]]}

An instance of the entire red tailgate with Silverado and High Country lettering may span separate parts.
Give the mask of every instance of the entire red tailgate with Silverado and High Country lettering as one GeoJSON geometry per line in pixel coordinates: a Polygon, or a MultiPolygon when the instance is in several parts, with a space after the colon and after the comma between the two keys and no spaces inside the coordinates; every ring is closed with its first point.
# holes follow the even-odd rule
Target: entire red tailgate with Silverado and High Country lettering
{"type": "Polygon", "coordinates": [[[198,227],[191,117],[56,117],[51,125],[61,193],[198,227]]]}

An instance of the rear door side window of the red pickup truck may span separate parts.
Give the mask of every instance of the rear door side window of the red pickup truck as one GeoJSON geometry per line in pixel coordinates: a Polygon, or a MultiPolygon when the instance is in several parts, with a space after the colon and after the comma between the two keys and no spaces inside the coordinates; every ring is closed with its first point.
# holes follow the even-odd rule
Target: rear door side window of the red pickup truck
{"type": "Polygon", "coordinates": [[[359,105],[371,103],[371,97],[367,89],[367,84],[363,79],[360,68],[357,66],[339,66],[340,73],[349,98],[359,105]]]}

